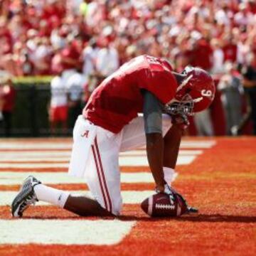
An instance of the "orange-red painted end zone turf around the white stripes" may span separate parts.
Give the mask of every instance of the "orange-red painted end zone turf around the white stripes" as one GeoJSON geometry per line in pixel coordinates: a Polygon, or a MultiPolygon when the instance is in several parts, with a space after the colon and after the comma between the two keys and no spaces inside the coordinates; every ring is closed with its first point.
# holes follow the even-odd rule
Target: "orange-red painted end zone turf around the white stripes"
{"type": "MultiPolygon", "coordinates": [[[[199,215],[149,218],[139,208],[139,204],[126,204],[120,220],[135,224],[117,244],[1,244],[0,255],[255,255],[256,139],[241,137],[214,140],[215,146],[204,149],[203,154],[198,155],[191,164],[178,166],[179,176],[174,182],[174,187],[183,193],[188,202],[199,208],[199,215]]],[[[128,168],[132,172],[132,167],[128,168]]],[[[82,184],[60,184],[55,187],[86,189],[82,184]]],[[[122,184],[122,188],[127,191],[150,190],[153,187],[151,183],[122,184]]],[[[17,189],[16,185],[0,186],[0,192],[17,189]]],[[[16,221],[9,217],[8,206],[0,206],[0,220],[16,221]]],[[[97,222],[106,219],[78,218],[53,206],[36,206],[29,208],[25,218],[20,221],[26,220],[64,220],[72,224],[75,220],[97,222]]],[[[28,225],[23,234],[31,232],[31,228],[28,225]]],[[[111,224],[107,228],[111,230],[111,224]]],[[[7,231],[10,236],[14,232],[7,231]]],[[[4,238],[0,235],[0,243],[1,239],[4,238]]],[[[103,239],[101,233],[98,239],[103,239]]]]}

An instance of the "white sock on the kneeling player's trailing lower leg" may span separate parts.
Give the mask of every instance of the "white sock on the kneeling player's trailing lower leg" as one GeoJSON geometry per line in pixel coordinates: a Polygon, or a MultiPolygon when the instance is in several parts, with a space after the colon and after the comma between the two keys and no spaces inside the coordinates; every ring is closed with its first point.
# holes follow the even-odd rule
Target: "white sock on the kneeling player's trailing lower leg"
{"type": "Polygon", "coordinates": [[[66,191],[51,188],[43,184],[34,186],[34,191],[36,193],[36,198],[38,198],[39,201],[51,203],[55,206],[60,206],[61,208],[65,206],[68,196],[70,195],[70,193],[66,191]]]}

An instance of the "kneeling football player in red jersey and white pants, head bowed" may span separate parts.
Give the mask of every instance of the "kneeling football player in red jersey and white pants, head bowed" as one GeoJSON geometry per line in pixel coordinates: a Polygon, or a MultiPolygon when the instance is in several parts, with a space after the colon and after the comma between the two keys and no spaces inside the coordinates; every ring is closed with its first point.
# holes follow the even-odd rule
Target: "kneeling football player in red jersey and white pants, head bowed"
{"type": "Polygon", "coordinates": [[[69,174],[86,178],[93,198],[73,196],[28,176],[11,204],[12,215],[21,217],[36,201],[82,216],[119,215],[119,152],[143,145],[156,192],[176,193],[170,184],[188,115],[206,109],[214,95],[213,80],[201,68],[179,74],[161,58],[130,60],[92,93],[73,130],[69,174]]]}

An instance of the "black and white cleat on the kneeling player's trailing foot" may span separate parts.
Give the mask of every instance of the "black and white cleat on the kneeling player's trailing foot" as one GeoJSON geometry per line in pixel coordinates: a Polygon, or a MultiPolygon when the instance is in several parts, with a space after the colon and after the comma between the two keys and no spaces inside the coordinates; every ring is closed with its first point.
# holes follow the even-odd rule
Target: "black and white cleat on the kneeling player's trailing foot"
{"type": "Polygon", "coordinates": [[[38,199],[36,198],[36,193],[34,191],[34,186],[41,184],[33,176],[28,176],[28,178],[23,181],[18,195],[14,198],[11,203],[11,215],[13,217],[22,217],[23,211],[28,208],[28,206],[35,205],[38,199]]]}

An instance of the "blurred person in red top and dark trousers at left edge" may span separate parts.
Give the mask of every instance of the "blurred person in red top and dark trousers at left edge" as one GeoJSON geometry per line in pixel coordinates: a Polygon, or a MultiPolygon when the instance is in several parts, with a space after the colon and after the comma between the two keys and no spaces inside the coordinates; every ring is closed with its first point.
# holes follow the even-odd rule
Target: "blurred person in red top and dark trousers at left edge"
{"type": "Polygon", "coordinates": [[[4,125],[4,134],[11,136],[11,116],[15,105],[15,90],[11,76],[1,71],[0,75],[0,124],[4,125]]]}

